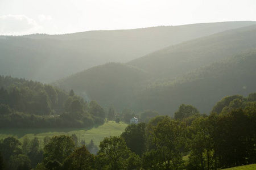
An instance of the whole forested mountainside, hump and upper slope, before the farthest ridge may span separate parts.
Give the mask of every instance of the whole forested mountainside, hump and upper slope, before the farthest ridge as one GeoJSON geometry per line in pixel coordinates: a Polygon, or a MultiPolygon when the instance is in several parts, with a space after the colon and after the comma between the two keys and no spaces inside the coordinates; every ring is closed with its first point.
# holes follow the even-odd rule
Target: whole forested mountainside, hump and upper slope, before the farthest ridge
{"type": "Polygon", "coordinates": [[[118,111],[151,109],[174,116],[185,103],[208,113],[221,97],[256,90],[255,31],[254,25],[216,33],[126,64],[93,67],[53,84],[118,111]]]}

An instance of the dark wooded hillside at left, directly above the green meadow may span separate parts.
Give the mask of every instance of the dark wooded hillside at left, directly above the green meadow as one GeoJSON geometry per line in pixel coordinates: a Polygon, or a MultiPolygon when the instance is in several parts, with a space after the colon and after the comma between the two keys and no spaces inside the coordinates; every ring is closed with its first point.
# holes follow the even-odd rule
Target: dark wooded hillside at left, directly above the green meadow
{"type": "Polygon", "coordinates": [[[0,76],[0,128],[79,128],[103,124],[105,110],[71,90],[0,76]]]}

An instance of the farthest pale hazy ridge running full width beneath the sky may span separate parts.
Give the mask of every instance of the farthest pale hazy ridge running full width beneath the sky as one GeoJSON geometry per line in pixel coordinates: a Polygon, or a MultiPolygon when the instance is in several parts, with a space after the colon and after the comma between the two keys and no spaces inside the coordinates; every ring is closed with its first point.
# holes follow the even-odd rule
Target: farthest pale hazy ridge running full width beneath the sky
{"type": "MultiPolygon", "coordinates": [[[[93,66],[128,62],[166,46],[253,24],[223,22],[66,35],[0,36],[0,73],[47,83],[93,66]]],[[[138,67],[146,69],[139,64],[138,67]]]]}

